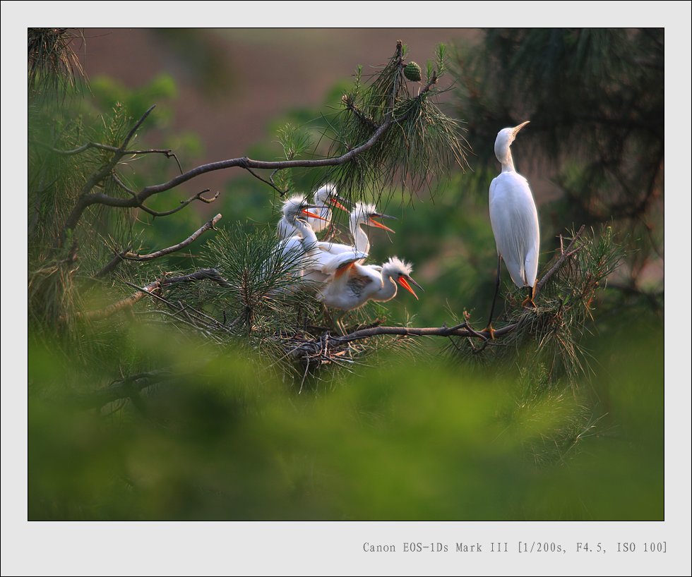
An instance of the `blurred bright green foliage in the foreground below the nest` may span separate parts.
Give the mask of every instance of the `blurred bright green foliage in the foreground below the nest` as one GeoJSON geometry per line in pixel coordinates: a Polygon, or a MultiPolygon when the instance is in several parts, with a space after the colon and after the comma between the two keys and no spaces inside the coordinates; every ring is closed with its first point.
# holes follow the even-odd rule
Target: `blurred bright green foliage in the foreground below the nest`
{"type": "Polygon", "coordinates": [[[574,393],[384,356],[296,394],[245,353],[129,336],[174,377],[103,408],[103,367],[30,343],[30,519],[663,518],[662,332],[611,339],[574,393]]]}

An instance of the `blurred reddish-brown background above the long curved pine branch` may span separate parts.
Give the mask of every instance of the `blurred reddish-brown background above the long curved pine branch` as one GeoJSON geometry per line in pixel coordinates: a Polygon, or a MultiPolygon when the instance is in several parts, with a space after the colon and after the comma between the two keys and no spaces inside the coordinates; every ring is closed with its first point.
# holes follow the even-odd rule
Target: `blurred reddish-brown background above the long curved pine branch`
{"type": "MultiPolygon", "coordinates": [[[[473,42],[481,34],[462,28],[236,28],[205,30],[201,42],[198,30],[86,28],[78,52],[88,78],[108,75],[133,88],[162,72],[172,75],[179,89],[172,128],[198,133],[205,162],[213,162],[274,140],[268,121],[292,107],[319,107],[358,64],[365,75],[369,66],[384,63],[397,40],[424,65],[440,42],[473,42]]],[[[238,174],[210,174],[208,186],[221,187],[238,174]]]]}

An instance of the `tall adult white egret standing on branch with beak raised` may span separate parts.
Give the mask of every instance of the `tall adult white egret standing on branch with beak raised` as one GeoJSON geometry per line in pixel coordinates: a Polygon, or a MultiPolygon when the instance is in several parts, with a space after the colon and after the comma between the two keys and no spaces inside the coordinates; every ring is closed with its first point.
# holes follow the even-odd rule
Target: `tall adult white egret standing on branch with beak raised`
{"type": "Polygon", "coordinates": [[[525,121],[514,128],[503,128],[495,139],[495,156],[502,165],[502,171],[490,183],[490,223],[497,246],[495,296],[486,329],[491,337],[494,337],[492,321],[500,288],[501,260],[504,260],[514,284],[519,288],[529,288],[522,305],[536,306],[533,296],[540,245],[538,212],[529,183],[514,168],[510,150],[517,133],[528,123],[525,121]]]}

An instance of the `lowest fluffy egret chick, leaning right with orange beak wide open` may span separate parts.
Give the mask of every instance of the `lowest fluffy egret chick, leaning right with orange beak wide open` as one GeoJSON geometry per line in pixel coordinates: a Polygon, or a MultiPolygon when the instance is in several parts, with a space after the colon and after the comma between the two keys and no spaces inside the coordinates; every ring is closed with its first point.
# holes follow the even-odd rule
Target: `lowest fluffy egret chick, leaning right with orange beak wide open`
{"type": "Polygon", "coordinates": [[[353,310],[368,300],[391,300],[396,296],[397,283],[418,298],[411,284],[423,288],[411,278],[411,272],[411,265],[398,257],[390,257],[381,267],[352,262],[334,272],[317,298],[329,307],[353,310]]]}

